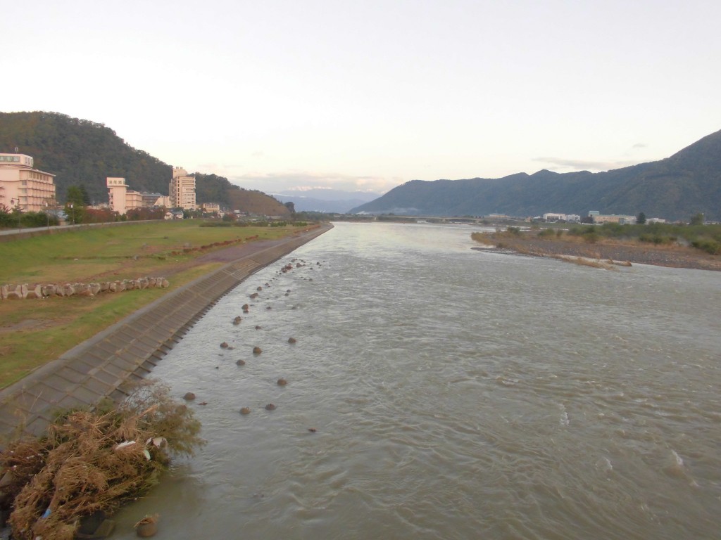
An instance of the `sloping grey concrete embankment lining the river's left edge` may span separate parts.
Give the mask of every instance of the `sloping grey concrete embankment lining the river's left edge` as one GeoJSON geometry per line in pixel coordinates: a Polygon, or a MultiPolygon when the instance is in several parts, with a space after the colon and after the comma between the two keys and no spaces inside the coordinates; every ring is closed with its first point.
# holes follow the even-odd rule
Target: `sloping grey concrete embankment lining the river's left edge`
{"type": "Polygon", "coordinates": [[[255,271],[325,233],[324,224],[237,259],[125,318],[0,391],[0,440],[40,435],[58,410],[120,400],[123,384],[145,377],[195,322],[255,271]]]}

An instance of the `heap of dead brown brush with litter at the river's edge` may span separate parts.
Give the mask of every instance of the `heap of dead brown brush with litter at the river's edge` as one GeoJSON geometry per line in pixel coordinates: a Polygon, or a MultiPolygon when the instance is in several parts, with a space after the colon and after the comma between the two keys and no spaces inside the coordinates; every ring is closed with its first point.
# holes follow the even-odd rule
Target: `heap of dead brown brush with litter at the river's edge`
{"type": "Polygon", "coordinates": [[[203,444],[193,411],[141,381],[125,402],[61,415],[42,438],[0,452],[0,501],[14,539],[71,540],[84,516],[149,490],[172,455],[203,444]]]}

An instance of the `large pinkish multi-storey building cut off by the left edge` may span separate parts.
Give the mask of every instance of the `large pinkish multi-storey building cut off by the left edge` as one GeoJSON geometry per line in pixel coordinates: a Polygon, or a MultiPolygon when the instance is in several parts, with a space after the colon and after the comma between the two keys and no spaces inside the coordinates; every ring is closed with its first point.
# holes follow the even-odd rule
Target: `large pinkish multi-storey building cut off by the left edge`
{"type": "Polygon", "coordinates": [[[25,154],[0,153],[0,207],[46,212],[55,207],[54,174],[33,168],[25,154]]]}

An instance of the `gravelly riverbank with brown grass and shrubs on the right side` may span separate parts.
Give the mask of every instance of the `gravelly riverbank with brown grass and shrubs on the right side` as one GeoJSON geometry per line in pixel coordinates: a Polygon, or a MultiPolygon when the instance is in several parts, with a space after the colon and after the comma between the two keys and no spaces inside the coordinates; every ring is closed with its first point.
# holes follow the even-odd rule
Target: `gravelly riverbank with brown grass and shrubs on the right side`
{"type": "Polygon", "coordinates": [[[686,246],[654,246],[653,244],[624,240],[598,240],[585,243],[570,238],[565,240],[546,239],[531,235],[495,235],[486,237],[482,243],[487,248],[503,253],[522,253],[537,257],[580,257],[596,261],[614,261],[616,263],[651,264],[672,268],[721,271],[721,257],[709,255],[698,249],[686,246]]]}

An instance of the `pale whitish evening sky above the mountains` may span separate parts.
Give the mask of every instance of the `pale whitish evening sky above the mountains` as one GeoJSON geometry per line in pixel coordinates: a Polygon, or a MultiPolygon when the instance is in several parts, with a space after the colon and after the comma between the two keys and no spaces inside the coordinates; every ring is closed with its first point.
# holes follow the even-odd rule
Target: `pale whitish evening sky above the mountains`
{"type": "Polygon", "coordinates": [[[606,171],[721,130],[718,0],[4,4],[0,110],[267,193],[606,171]]]}

